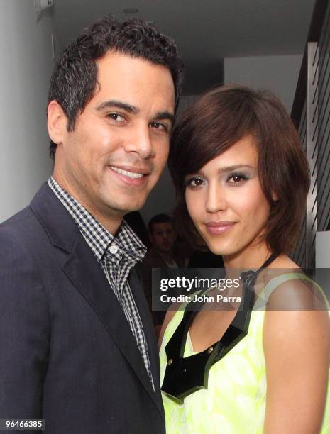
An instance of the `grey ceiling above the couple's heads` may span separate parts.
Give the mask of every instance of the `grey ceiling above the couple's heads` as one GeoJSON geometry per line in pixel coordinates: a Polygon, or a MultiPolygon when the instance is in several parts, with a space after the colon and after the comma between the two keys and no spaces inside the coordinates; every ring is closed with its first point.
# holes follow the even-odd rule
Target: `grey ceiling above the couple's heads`
{"type": "Polygon", "coordinates": [[[59,45],[97,18],[123,9],[175,39],[186,65],[184,93],[222,80],[224,57],[302,54],[314,0],[55,0],[59,45]]]}

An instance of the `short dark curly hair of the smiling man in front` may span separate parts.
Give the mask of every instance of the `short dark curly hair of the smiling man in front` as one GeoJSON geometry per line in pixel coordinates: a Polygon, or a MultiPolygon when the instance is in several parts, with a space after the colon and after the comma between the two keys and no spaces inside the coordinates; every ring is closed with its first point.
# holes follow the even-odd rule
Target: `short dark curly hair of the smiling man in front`
{"type": "MultiPolygon", "coordinates": [[[[172,74],[175,87],[175,109],[182,83],[182,61],[173,40],[162,35],[143,20],[120,22],[106,16],[84,30],[58,57],[50,79],[48,102],[57,101],[67,116],[67,130],[75,128],[77,116],[97,88],[97,63],[106,52],[121,52],[131,57],[164,65],[172,74]]],[[[50,157],[56,143],[50,140],[50,157]]]]}

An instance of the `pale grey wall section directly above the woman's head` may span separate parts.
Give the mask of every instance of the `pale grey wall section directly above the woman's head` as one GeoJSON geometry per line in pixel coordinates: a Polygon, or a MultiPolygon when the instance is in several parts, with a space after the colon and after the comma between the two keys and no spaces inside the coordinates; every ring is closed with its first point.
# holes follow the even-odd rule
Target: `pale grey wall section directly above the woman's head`
{"type": "Polygon", "coordinates": [[[228,57],[224,82],[273,91],[290,113],[301,65],[302,55],[228,57]]]}

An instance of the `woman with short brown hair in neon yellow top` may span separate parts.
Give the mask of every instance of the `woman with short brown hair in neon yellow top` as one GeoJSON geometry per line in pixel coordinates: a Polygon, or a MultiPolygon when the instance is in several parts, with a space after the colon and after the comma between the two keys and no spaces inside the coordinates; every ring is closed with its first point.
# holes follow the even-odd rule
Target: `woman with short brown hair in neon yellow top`
{"type": "Polygon", "coordinates": [[[167,433],[330,433],[329,312],[311,310],[315,286],[287,256],[309,169],[282,104],[245,87],[209,91],[175,127],[169,167],[181,232],[222,255],[229,277],[258,270],[241,274],[242,296],[252,289],[259,298],[253,292],[250,307],[264,298],[267,309],[248,310],[239,335],[237,304],[167,312],[160,347],[167,433]]]}

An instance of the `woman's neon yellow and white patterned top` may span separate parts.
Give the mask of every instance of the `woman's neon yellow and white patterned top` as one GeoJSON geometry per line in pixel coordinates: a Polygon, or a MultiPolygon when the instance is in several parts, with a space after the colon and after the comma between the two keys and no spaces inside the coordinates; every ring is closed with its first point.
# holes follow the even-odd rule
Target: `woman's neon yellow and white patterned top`
{"type": "MultiPolygon", "coordinates": [[[[275,277],[265,286],[273,289],[290,279],[306,279],[301,273],[275,277]]],[[[329,304],[326,301],[329,308],[329,304]]],[[[184,310],[175,313],[167,326],[160,347],[160,384],[163,383],[167,357],[165,346],[182,320],[184,310]]],[[[167,434],[257,434],[263,433],[266,402],[266,370],[263,354],[265,310],[251,313],[248,334],[209,370],[208,389],[188,395],[183,404],[163,393],[167,434]]],[[[187,335],[184,357],[193,355],[187,335]]],[[[330,434],[330,377],[326,412],[321,434],[330,434]]]]}

